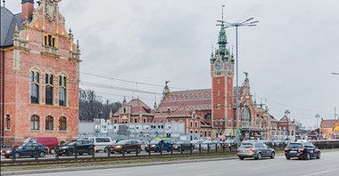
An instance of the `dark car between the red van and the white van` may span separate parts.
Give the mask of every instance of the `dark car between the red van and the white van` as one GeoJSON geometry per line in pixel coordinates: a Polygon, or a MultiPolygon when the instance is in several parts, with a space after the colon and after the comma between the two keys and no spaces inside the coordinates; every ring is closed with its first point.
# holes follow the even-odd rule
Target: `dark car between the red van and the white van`
{"type": "Polygon", "coordinates": [[[76,141],[69,141],[61,146],[59,146],[57,152],[59,156],[65,154],[67,156],[71,156],[74,154],[79,154],[80,156],[84,153],[87,153],[88,156],[93,156],[95,146],[92,140],[76,140],[76,141]]]}

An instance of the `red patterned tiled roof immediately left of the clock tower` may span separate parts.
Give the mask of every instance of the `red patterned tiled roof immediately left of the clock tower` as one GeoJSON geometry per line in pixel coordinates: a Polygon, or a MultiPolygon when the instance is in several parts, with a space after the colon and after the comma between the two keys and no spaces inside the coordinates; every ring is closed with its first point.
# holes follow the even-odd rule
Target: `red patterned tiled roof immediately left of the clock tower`
{"type": "Polygon", "coordinates": [[[158,112],[174,111],[180,106],[194,110],[211,110],[211,89],[169,92],[161,100],[158,112]]]}

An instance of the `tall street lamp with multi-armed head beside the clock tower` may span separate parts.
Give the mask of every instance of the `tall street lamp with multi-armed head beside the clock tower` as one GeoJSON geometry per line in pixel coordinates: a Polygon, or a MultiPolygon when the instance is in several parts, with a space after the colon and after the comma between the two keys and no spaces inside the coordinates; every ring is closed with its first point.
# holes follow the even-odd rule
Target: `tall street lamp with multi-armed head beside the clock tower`
{"type": "MultiPolygon", "coordinates": [[[[259,20],[252,21],[253,18],[250,18],[248,20],[244,20],[243,22],[227,22],[224,20],[217,20],[218,22],[221,22],[221,26],[224,26],[226,28],[232,28],[236,27],[236,145],[239,147],[240,141],[239,141],[239,87],[238,87],[238,27],[254,27],[257,26],[256,24],[259,22],[259,20]]],[[[219,25],[218,25],[219,26],[219,25]]]]}

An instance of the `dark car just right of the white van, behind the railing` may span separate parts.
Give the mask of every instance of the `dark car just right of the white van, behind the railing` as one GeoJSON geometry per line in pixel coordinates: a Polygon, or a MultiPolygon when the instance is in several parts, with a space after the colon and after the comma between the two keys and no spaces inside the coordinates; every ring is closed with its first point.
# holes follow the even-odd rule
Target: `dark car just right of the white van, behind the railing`
{"type": "Polygon", "coordinates": [[[110,151],[118,153],[130,153],[130,152],[141,152],[141,143],[138,140],[120,140],[118,143],[110,147],[110,151]]]}

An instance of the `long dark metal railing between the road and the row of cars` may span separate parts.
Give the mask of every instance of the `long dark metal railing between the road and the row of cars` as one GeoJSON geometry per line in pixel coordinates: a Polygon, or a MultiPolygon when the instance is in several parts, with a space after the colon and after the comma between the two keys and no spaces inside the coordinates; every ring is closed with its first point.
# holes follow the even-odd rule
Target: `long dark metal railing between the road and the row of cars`
{"type": "MultiPolygon", "coordinates": [[[[277,151],[284,151],[287,143],[266,143],[270,148],[275,148],[277,151]]],[[[339,141],[314,141],[313,144],[320,148],[339,148],[339,141]]],[[[16,161],[47,161],[47,160],[70,160],[70,159],[86,159],[86,158],[120,158],[120,157],[147,157],[147,156],[199,156],[199,155],[221,155],[221,154],[236,154],[236,145],[228,145],[225,143],[208,143],[208,144],[189,144],[180,145],[181,149],[174,148],[173,144],[170,147],[154,146],[147,144],[130,149],[128,145],[87,145],[87,148],[80,146],[70,146],[70,150],[66,150],[64,146],[55,148],[54,154],[47,154],[46,150],[35,147],[29,153],[23,154],[22,147],[3,147],[1,148],[1,163],[11,163],[16,161]],[[115,147],[120,146],[120,150],[115,147]],[[97,148],[103,150],[97,150],[97,148]],[[105,148],[109,148],[106,150],[105,148]],[[158,149],[156,149],[158,148],[158,149]],[[140,149],[140,150],[139,150],[140,149]]]]}

